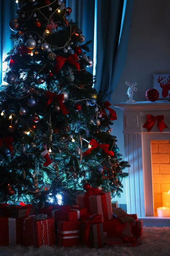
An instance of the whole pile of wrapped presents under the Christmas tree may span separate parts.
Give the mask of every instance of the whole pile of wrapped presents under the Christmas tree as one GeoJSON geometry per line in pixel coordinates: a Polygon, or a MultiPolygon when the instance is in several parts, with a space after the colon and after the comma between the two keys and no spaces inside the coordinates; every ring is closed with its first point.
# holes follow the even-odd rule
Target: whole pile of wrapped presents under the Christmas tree
{"type": "Polygon", "coordinates": [[[78,196],[78,206],[53,205],[39,210],[31,205],[0,205],[0,245],[40,247],[134,247],[142,244],[143,221],[111,204],[111,193],[91,188],[78,196]]]}

